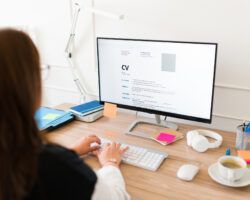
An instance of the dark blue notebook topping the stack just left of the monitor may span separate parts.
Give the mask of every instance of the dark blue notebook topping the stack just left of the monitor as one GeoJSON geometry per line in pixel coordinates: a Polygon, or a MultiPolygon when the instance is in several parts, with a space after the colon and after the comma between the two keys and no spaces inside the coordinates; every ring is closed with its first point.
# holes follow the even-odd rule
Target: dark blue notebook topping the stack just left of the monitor
{"type": "Polygon", "coordinates": [[[84,104],[71,107],[70,110],[76,115],[85,116],[90,113],[103,110],[103,108],[104,106],[100,104],[99,101],[95,100],[95,101],[90,101],[84,104]]]}

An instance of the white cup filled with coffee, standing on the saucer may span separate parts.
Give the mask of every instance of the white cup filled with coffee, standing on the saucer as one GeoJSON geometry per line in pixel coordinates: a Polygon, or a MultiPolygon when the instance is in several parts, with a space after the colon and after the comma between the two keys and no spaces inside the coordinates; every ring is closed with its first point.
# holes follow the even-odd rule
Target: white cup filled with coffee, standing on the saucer
{"type": "Polygon", "coordinates": [[[231,182],[241,179],[248,171],[246,161],[237,156],[220,157],[218,160],[218,169],[220,175],[231,182]]]}

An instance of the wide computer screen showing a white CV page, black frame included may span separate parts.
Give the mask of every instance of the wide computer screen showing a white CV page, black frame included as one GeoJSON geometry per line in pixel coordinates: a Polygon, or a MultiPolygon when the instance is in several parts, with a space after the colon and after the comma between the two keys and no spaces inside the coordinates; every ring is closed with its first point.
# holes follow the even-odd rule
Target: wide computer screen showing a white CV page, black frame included
{"type": "Polygon", "coordinates": [[[101,102],[211,122],[216,43],[97,38],[101,102]]]}

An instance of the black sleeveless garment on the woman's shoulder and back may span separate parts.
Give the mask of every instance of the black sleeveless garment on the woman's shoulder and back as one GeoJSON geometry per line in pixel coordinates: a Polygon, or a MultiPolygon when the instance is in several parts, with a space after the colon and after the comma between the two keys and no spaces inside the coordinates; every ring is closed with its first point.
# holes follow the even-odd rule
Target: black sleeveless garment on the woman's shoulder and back
{"type": "Polygon", "coordinates": [[[95,173],[75,152],[45,145],[39,155],[38,180],[26,200],[91,199],[96,181],[95,173]]]}

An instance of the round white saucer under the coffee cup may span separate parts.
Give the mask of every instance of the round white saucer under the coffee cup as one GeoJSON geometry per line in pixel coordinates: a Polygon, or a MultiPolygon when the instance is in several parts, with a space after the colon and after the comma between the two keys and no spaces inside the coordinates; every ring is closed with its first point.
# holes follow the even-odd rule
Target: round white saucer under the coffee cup
{"type": "Polygon", "coordinates": [[[220,183],[221,185],[229,187],[245,187],[250,185],[250,170],[248,170],[246,175],[240,180],[234,182],[228,181],[220,176],[217,163],[210,165],[208,168],[208,174],[215,182],[220,183]]]}

